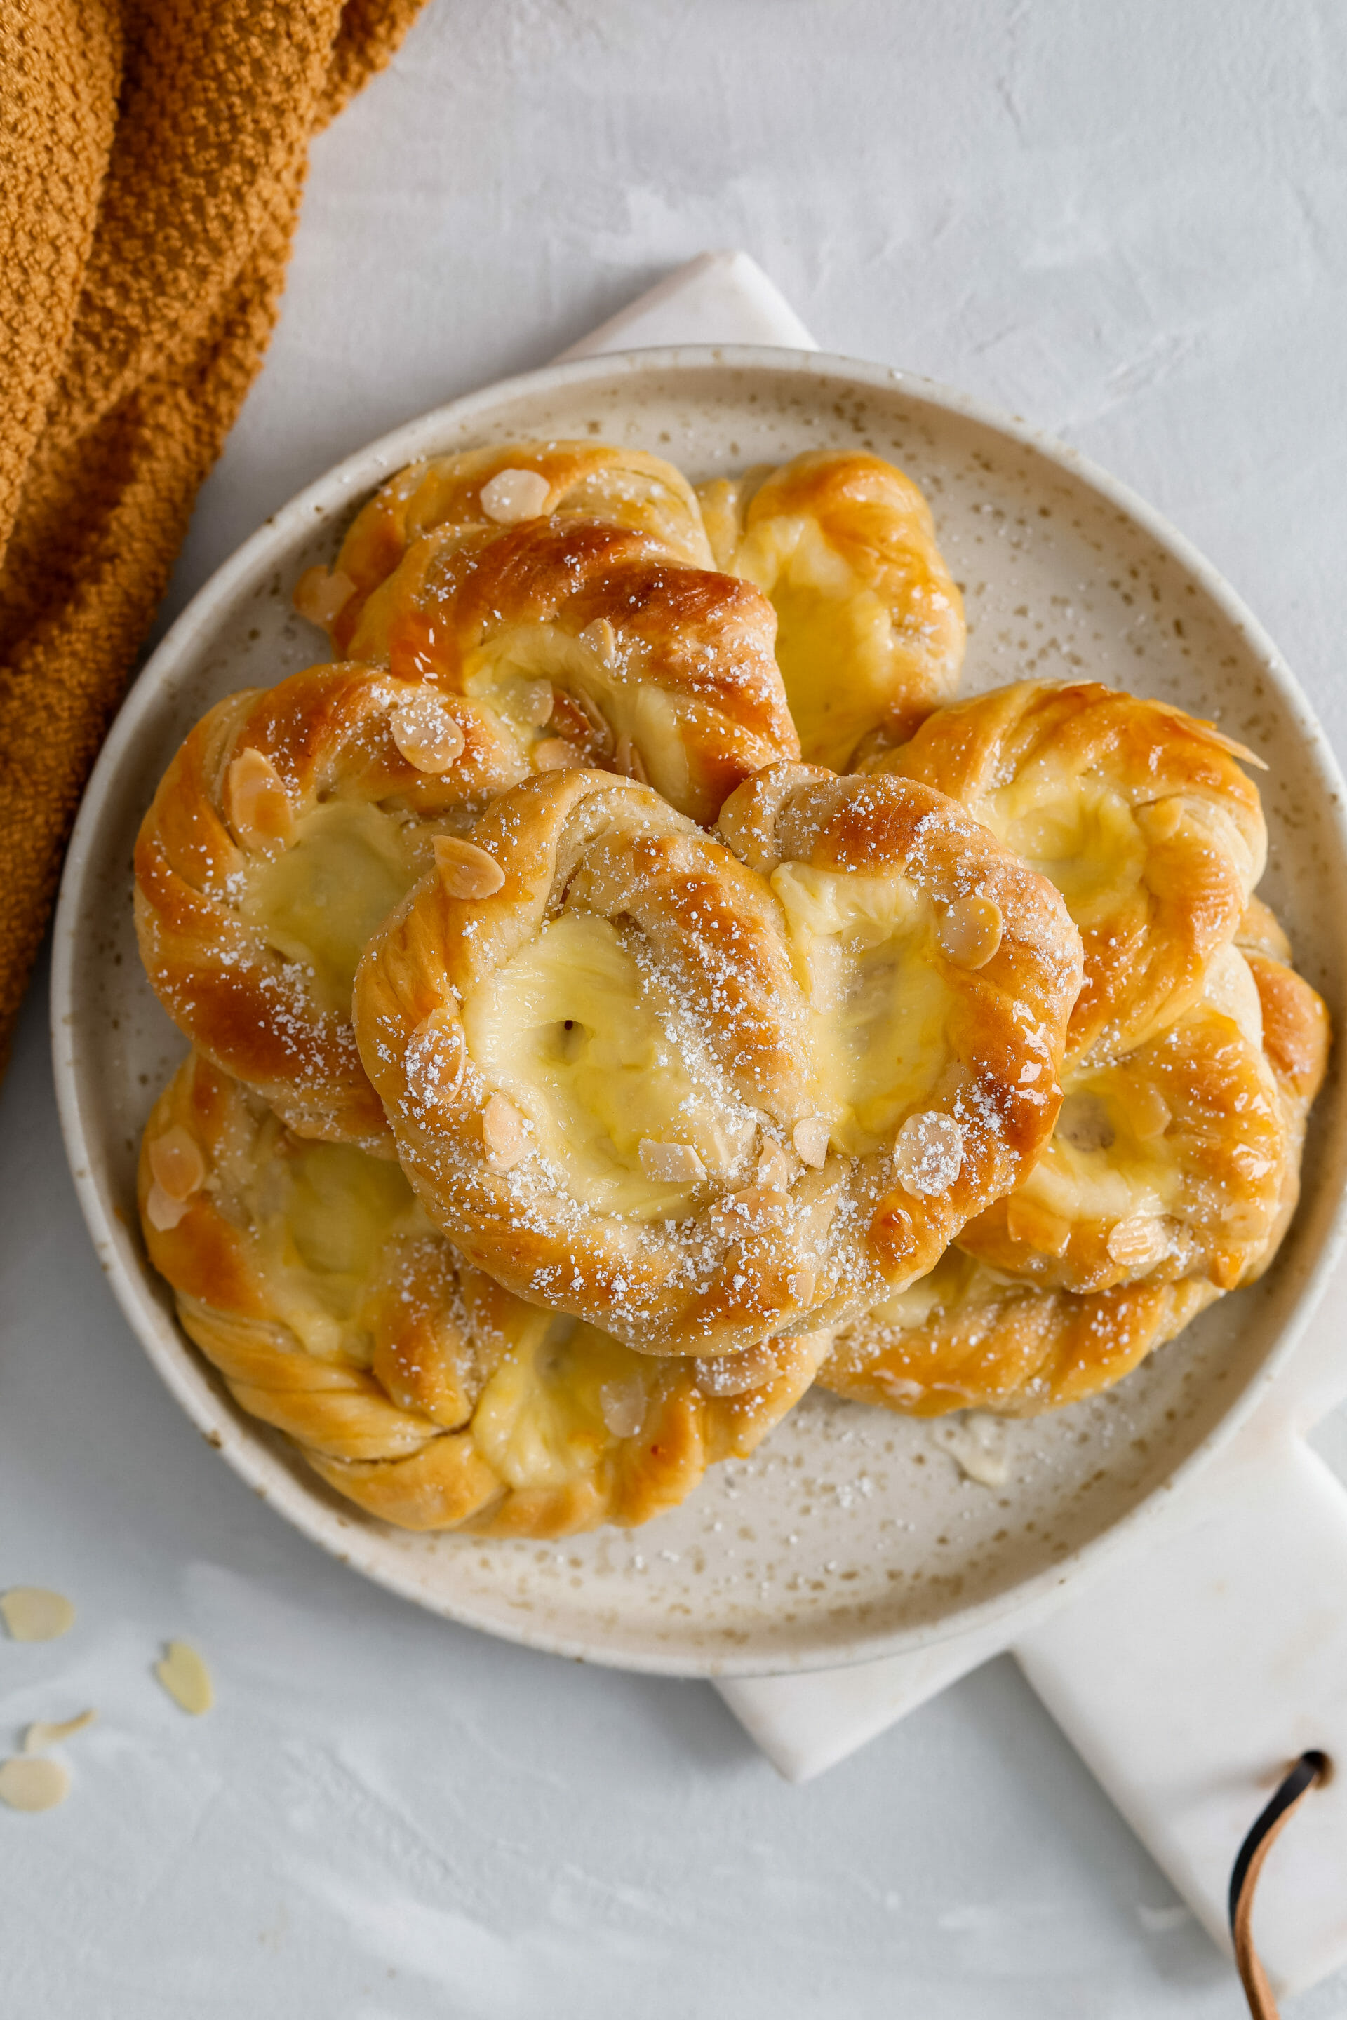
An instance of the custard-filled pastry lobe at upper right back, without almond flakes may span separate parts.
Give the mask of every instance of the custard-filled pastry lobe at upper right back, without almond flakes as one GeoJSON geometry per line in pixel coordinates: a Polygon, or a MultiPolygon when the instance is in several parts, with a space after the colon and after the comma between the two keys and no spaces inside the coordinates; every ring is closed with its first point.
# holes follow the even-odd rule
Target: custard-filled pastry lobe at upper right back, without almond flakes
{"type": "Polygon", "coordinates": [[[717,566],[778,610],[778,661],[808,762],[846,772],[949,699],[963,598],[903,471],[820,448],[697,495],[717,566]]]}

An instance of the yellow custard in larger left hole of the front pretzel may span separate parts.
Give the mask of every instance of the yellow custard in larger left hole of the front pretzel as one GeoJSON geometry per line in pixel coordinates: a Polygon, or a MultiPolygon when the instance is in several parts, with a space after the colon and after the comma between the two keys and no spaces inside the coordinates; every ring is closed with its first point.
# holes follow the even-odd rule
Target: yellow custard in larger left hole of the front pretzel
{"type": "Polygon", "coordinates": [[[604,917],[565,911],[462,1004],[469,1052],[533,1125],[567,1192],[600,1212],[654,1218],[695,1202],[705,1180],[654,1182],[642,1141],[689,1145],[725,1176],[755,1117],[683,1030],[604,917]]]}

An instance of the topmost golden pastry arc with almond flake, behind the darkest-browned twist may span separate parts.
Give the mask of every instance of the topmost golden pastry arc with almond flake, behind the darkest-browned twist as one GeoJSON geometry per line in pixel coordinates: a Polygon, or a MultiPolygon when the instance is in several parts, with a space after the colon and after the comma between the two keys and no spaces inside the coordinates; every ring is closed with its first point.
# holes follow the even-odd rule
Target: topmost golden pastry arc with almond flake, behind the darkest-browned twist
{"type": "Polygon", "coordinates": [[[303,616],[343,656],[366,602],[408,547],[440,527],[584,519],[646,533],[687,568],[713,568],[697,497],[672,463],[610,442],[505,442],[410,463],[351,521],[331,570],[311,568],[295,590],[303,616]]]}

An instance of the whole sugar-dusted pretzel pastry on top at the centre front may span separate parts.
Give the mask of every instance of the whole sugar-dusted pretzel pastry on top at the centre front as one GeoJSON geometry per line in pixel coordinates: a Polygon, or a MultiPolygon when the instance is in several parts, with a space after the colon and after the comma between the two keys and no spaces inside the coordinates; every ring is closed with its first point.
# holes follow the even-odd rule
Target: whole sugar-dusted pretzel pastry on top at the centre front
{"type": "Polygon", "coordinates": [[[832,1323],[929,1269],[1050,1131],[1078,988],[1052,887],[937,794],[782,766],[725,832],[747,865],[628,782],[519,786],[473,830],[479,895],[426,881],[355,984],[432,1218],[650,1353],[832,1323]]]}

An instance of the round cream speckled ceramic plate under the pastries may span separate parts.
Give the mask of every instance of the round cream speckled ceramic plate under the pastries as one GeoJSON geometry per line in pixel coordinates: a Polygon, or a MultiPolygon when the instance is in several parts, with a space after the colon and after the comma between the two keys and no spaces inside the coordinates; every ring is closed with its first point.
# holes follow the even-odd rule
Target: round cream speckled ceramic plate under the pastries
{"type": "Polygon", "coordinates": [[[178,1331],[135,1232],[135,1145],[182,1038],[141,976],[131,844],[174,747],[220,695],[321,656],[289,592],[392,471],[511,436],[604,436],[693,481],[854,444],[925,489],[963,584],[963,691],[1093,675],[1216,717],[1258,749],[1264,895],[1339,1030],[1347,1006],[1341,780],[1270,640],[1200,556],[1060,444],[878,366],[668,349],[555,366],[458,400],[351,457],[265,525],[172,628],[93,774],[61,893],[55,1050],[93,1240],[145,1351],[206,1440],[297,1527],[380,1584],[541,1648],[675,1675],[753,1675],[899,1652],[1014,1612],[1115,1545],[1198,1467],[1290,1349],[1337,1244],[1343,1091],[1327,1087],[1278,1265],[1119,1388],[1006,1428],[1008,1479],[967,1479],[939,1432],[810,1396],[749,1462],[638,1531],[561,1543],[406,1535],[329,1495],[230,1402],[178,1331]]]}

